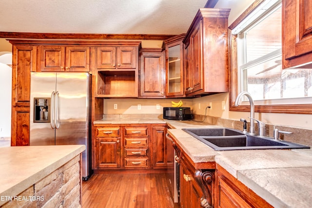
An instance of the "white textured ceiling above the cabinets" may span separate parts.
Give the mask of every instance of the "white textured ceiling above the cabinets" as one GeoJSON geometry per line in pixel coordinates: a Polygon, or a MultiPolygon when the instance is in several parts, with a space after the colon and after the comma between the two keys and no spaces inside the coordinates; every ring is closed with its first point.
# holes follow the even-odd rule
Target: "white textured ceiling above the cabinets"
{"type": "Polygon", "coordinates": [[[0,32],[186,33],[207,0],[0,0],[0,32]]]}

